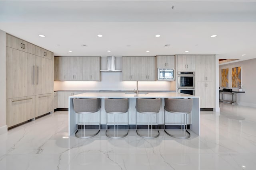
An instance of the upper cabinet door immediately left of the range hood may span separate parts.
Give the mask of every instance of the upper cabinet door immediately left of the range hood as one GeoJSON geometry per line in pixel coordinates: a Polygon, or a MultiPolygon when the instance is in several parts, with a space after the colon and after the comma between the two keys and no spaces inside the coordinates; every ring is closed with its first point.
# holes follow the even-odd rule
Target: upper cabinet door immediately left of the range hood
{"type": "Polygon", "coordinates": [[[91,80],[94,81],[99,81],[100,80],[100,67],[101,67],[101,62],[100,62],[100,57],[91,57],[91,80]]]}

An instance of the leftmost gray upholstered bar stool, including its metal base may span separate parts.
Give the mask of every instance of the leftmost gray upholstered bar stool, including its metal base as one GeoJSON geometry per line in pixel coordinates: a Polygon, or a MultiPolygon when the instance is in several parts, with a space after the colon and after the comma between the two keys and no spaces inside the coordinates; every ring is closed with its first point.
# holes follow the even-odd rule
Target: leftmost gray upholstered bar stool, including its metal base
{"type": "Polygon", "coordinates": [[[85,117],[85,114],[96,113],[100,111],[100,98],[74,98],[73,104],[74,104],[74,111],[78,113],[76,137],[86,139],[86,138],[96,136],[100,132],[100,112],[98,113],[99,123],[97,123],[99,124],[99,129],[96,129],[96,131],[95,129],[90,129],[90,131],[85,129],[86,124],[88,125],[88,124],[95,124],[95,123],[86,122],[84,120],[85,118],[83,119],[83,115],[85,117]],[[80,121],[80,117],[82,117],[81,121],[80,121]],[[80,130],[78,129],[79,124],[82,125],[80,130]],[[84,130],[83,130],[83,126],[84,126],[84,130]]]}

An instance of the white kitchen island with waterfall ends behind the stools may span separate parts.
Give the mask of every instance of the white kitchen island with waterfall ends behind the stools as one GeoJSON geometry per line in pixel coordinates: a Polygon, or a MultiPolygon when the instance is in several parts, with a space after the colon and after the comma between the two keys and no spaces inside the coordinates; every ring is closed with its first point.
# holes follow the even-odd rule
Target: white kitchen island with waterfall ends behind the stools
{"type": "MultiPolygon", "coordinates": [[[[104,109],[104,98],[129,98],[129,125],[135,125],[136,122],[136,109],[135,102],[136,98],[161,98],[162,104],[159,112],[158,123],[163,125],[164,123],[164,98],[192,98],[193,107],[191,112],[191,117],[188,124],[190,124],[190,130],[200,135],[200,97],[192,96],[189,94],[182,94],[177,92],[139,92],[138,94],[133,92],[88,92],[83,94],[78,94],[74,96],[69,96],[68,100],[68,118],[69,126],[68,133],[72,135],[77,129],[77,114],[74,112],[73,98],[101,98],[101,113],[100,113],[100,124],[106,124],[106,112],[104,109]]],[[[97,119],[97,116],[95,117],[97,119]]],[[[143,121],[144,117],[140,117],[140,121],[143,121]]],[[[180,119],[179,119],[180,120],[180,119]]],[[[171,120],[170,120],[171,121],[171,120]]],[[[173,125],[179,125],[180,123],[174,122],[173,125]]]]}

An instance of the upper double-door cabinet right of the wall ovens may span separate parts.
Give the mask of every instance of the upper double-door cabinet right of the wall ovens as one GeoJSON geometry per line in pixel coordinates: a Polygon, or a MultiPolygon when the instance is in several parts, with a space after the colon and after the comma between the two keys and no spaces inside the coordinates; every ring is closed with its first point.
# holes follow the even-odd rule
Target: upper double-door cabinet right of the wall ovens
{"type": "Polygon", "coordinates": [[[215,82],[215,55],[198,55],[196,68],[198,82],[215,82]]]}

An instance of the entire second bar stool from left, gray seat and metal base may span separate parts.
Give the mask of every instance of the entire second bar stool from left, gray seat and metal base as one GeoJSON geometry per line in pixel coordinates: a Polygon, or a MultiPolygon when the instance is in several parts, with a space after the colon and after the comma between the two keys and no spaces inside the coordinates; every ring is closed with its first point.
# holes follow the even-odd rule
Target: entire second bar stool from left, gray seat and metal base
{"type": "Polygon", "coordinates": [[[120,139],[126,137],[129,131],[129,102],[128,98],[106,98],[105,99],[105,110],[106,110],[106,136],[112,139],[120,139]],[[115,117],[117,114],[127,113],[127,123],[116,123],[115,117]],[[108,114],[114,115],[114,131],[110,133],[108,130],[108,114]],[[127,131],[125,133],[118,133],[118,124],[124,125],[127,124],[127,131]],[[116,131],[115,131],[116,125],[116,131]]]}

